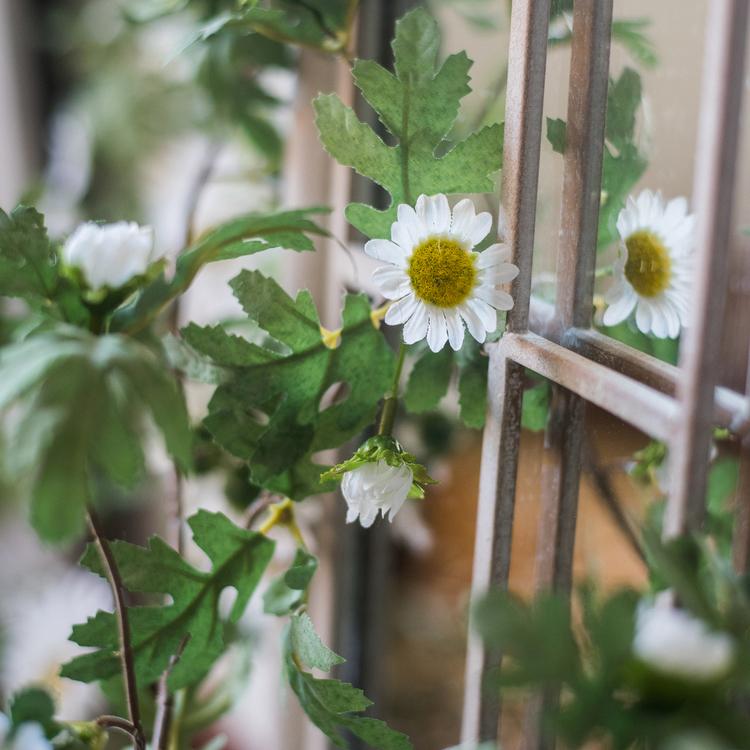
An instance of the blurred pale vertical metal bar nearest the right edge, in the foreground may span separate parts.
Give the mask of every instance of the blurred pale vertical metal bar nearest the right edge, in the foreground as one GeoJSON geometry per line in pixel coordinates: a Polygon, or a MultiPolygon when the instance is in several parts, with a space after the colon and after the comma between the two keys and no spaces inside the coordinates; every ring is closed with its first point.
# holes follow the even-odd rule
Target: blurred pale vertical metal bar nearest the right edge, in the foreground
{"type": "Polygon", "coordinates": [[[667,537],[697,527],[704,513],[715,362],[728,282],[748,5],[748,0],[708,4],[693,188],[698,222],[695,283],[690,327],[683,333],[680,351],[683,378],[677,392],[680,417],[670,445],[667,537]]]}

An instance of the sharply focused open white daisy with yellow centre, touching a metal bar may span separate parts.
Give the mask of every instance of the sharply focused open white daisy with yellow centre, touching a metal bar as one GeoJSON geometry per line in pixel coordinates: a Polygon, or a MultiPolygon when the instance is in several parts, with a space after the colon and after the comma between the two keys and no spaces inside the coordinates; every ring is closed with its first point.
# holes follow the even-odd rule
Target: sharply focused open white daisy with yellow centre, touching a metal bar
{"type": "Polygon", "coordinates": [[[373,279],[394,300],[385,322],[403,323],[407,344],[426,338],[433,352],[446,342],[458,350],[464,326],[482,343],[497,328],[497,310],[513,307],[513,298],[497,289],[518,275],[508,263],[509,248],[497,243],[482,253],[472,250],[491,227],[492,216],[477,214],[467,198],[451,212],[444,195],[420,195],[416,208],[398,207],[390,240],[365,245],[367,255],[388,263],[373,279]]]}

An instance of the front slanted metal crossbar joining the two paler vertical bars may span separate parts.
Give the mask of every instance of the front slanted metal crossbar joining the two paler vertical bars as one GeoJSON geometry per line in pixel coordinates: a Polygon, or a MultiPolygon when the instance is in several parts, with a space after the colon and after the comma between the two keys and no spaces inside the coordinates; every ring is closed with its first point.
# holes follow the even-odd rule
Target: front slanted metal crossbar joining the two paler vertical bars
{"type": "Polygon", "coordinates": [[[509,359],[642,432],[664,441],[672,436],[678,406],[669,396],[534,333],[506,333],[499,346],[509,359]]]}

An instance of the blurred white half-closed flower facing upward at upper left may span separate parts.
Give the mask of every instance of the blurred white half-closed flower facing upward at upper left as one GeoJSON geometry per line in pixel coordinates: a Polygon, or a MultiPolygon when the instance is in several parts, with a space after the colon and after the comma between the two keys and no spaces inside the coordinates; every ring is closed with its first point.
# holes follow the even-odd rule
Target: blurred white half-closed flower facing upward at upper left
{"type": "Polygon", "coordinates": [[[62,249],[66,265],[77,268],[92,291],[119,289],[145,274],[161,259],[154,249],[154,233],[133,221],[81,224],[62,249]]]}

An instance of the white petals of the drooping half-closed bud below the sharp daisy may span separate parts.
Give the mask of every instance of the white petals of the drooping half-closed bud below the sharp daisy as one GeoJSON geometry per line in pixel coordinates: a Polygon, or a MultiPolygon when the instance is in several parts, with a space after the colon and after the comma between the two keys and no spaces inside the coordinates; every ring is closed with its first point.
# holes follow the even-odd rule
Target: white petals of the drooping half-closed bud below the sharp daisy
{"type": "Polygon", "coordinates": [[[406,464],[389,466],[383,460],[347,471],[341,480],[341,491],[349,506],[346,522],[359,519],[362,526],[368,528],[378,513],[393,521],[409,495],[413,479],[406,464]]]}

